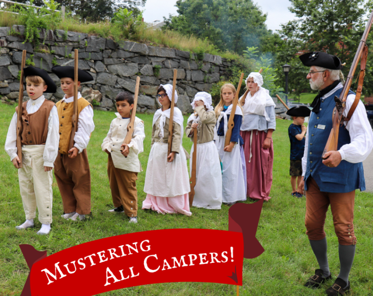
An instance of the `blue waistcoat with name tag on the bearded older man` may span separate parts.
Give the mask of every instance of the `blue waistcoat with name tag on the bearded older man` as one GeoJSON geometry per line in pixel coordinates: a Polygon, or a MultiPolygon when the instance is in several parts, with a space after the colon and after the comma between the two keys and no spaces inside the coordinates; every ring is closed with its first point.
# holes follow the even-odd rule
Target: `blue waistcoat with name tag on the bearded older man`
{"type": "MultiPolygon", "coordinates": [[[[350,192],[357,188],[365,190],[363,164],[342,160],[335,168],[323,164],[321,155],[333,127],[332,114],[336,103],[334,97],[339,97],[342,88],[331,96],[322,99],[320,111],[312,113],[308,122],[308,155],[307,169],[304,175],[304,185],[307,190],[307,179],[312,177],[322,192],[350,192]],[[325,126],[325,129],[323,128],[325,126]],[[319,127],[319,128],[318,128],[319,127]],[[320,128],[321,127],[321,128],[320,128]]],[[[354,94],[349,91],[349,94],[354,94]]],[[[351,143],[350,134],[345,125],[339,127],[338,150],[345,144],[351,143]]]]}

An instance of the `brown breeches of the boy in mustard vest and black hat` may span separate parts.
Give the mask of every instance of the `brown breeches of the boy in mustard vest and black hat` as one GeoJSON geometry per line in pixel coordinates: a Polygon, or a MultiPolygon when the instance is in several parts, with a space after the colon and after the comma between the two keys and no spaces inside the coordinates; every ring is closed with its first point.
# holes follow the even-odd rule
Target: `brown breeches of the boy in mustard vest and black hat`
{"type": "Polygon", "coordinates": [[[54,163],[54,175],[61,192],[64,212],[87,215],[91,212],[91,175],[87,150],[74,159],[58,153],[54,163]]]}

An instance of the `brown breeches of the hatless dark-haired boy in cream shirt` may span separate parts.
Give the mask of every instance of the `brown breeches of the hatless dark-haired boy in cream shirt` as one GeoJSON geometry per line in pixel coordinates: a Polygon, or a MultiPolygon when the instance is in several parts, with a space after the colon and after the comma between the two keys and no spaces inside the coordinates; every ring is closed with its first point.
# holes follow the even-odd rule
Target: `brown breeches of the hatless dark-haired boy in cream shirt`
{"type": "Polygon", "coordinates": [[[112,163],[112,156],[108,158],[109,184],[112,190],[114,207],[123,206],[128,217],[137,216],[137,173],[117,169],[112,163]]]}

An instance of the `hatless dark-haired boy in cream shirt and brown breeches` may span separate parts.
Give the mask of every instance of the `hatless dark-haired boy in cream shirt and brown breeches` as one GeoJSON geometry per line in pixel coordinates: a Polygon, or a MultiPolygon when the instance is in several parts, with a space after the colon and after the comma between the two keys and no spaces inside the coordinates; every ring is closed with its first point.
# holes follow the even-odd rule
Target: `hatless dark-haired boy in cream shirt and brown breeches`
{"type": "Polygon", "coordinates": [[[138,172],[142,171],[138,154],[144,151],[144,121],[135,117],[132,140],[128,145],[122,144],[127,135],[134,98],[124,91],[116,96],[115,101],[118,112],[101,145],[102,150],[109,154],[108,176],[115,207],[109,212],[125,213],[130,223],[137,223],[136,180],[138,172]],[[121,147],[124,147],[123,151],[120,151],[121,147]]]}

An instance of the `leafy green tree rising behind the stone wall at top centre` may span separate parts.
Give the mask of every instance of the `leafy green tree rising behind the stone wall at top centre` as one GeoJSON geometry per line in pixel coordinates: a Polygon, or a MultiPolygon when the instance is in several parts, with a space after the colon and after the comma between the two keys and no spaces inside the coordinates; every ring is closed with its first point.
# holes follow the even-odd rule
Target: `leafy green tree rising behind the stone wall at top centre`
{"type": "Polygon", "coordinates": [[[168,29],[208,38],[221,50],[241,54],[269,34],[266,14],[252,0],[178,0],[176,6],[179,15],[165,19],[168,29]]]}

